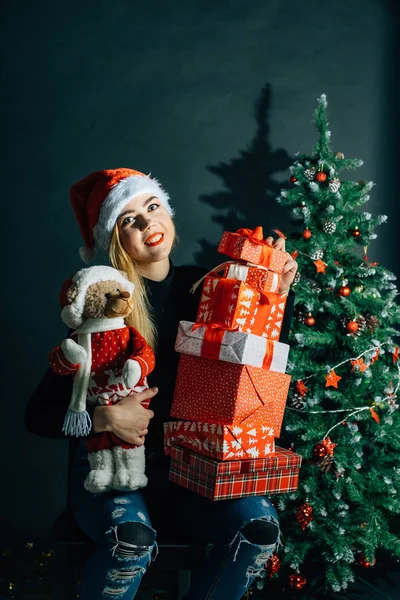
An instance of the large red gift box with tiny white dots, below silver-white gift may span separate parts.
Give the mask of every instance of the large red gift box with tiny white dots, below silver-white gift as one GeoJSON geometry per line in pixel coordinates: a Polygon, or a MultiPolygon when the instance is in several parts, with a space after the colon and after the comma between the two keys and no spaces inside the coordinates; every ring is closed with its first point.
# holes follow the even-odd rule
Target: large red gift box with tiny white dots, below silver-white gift
{"type": "Polygon", "coordinates": [[[285,373],[182,354],[171,417],[236,425],[265,407],[264,425],[279,437],[289,385],[285,373]]]}

